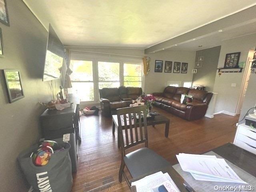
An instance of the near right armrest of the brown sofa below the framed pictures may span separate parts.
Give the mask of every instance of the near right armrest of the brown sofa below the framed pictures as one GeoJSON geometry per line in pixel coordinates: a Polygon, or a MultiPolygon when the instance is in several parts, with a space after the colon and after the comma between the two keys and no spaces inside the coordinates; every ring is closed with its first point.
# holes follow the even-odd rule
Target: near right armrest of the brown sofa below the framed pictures
{"type": "Polygon", "coordinates": [[[206,103],[188,103],[185,111],[185,119],[189,121],[200,119],[205,115],[207,108],[208,105],[206,103]]]}

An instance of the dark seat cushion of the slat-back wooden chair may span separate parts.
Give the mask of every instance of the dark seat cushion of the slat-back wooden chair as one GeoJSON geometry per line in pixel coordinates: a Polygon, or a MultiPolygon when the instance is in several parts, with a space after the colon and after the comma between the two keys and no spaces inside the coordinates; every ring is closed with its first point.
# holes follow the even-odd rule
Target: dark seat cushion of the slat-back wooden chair
{"type": "Polygon", "coordinates": [[[126,154],[124,162],[132,178],[171,165],[170,162],[146,147],[126,154]]]}

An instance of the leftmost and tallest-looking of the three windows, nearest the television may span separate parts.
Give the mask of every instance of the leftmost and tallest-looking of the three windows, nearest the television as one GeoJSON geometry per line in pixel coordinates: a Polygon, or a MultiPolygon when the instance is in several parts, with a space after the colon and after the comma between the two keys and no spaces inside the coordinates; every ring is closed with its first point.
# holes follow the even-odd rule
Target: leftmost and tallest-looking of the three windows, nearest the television
{"type": "Polygon", "coordinates": [[[70,68],[72,93],[78,94],[81,101],[94,101],[92,61],[71,60],[70,68]]]}

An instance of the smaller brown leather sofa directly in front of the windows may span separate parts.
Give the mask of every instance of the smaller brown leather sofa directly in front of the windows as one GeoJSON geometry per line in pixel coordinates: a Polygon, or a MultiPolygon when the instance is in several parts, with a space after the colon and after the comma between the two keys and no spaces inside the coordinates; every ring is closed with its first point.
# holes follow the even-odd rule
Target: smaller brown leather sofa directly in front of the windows
{"type": "Polygon", "coordinates": [[[118,108],[128,107],[132,100],[142,95],[140,87],[102,88],[100,92],[100,108],[105,116],[114,114],[118,108]]]}

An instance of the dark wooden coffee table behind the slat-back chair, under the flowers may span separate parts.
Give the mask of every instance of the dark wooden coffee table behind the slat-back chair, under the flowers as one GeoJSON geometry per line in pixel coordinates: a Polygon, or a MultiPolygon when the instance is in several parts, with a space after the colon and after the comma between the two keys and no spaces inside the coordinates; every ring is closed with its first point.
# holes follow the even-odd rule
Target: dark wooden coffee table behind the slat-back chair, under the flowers
{"type": "MultiPolygon", "coordinates": [[[[129,125],[129,120],[126,121],[127,125],[129,125]]],[[[124,121],[122,123],[122,129],[124,129],[124,121]]],[[[169,135],[169,126],[170,126],[170,119],[163,115],[156,115],[154,118],[149,118],[147,119],[147,126],[155,126],[159,124],[165,124],[165,132],[164,136],[168,138],[169,135]]],[[[142,121],[142,126],[144,126],[144,123],[142,121]]],[[[118,127],[118,120],[117,120],[117,115],[112,115],[112,134],[115,134],[115,129],[118,127]]],[[[134,128],[134,120],[132,120],[132,127],[134,128]]],[[[118,139],[118,148],[120,147],[120,142],[118,139]]]]}

